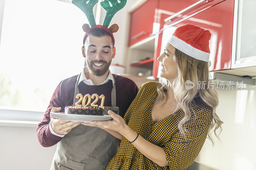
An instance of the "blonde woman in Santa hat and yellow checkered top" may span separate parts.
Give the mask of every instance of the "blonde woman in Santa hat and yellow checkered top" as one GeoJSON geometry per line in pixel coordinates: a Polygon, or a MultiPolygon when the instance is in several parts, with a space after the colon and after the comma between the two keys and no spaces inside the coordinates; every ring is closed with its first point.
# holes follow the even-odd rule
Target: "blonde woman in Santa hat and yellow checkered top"
{"type": "Polygon", "coordinates": [[[216,115],[217,92],[207,88],[210,38],[209,31],[194,25],[177,28],[157,59],[167,83],[143,84],[124,119],[108,111],[113,120],[84,123],[119,140],[107,169],[186,169],[207,133],[214,144],[211,129],[216,135],[223,122],[216,115]],[[205,87],[197,88],[198,82],[205,87]]]}

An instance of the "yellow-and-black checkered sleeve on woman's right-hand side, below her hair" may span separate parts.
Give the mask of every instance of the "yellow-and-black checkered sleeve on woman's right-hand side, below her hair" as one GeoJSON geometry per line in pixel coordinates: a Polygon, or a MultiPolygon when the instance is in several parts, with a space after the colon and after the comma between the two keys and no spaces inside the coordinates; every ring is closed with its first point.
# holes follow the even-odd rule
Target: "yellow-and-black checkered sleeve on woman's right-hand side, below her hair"
{"type": "Polygon", "coordinates": [[[204,116],[185,124],[186,139],[178,130],[172,139],[164,144],[163,149],[170,169],[187,169],[196,159],[212,121],[211,110],[208,109],[207,112],[204,116]]]}

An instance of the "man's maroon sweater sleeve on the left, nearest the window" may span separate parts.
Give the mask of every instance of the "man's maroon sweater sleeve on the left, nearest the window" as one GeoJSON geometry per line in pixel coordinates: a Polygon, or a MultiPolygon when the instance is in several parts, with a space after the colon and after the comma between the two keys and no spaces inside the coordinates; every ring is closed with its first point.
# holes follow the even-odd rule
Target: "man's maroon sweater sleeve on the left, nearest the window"
{"type": "Polygon", "coordinates": [[[49,128],[49,124],[51,123],[50,112],[52,110],[52,107],[61,107],[60,112],[64,111],[65,105],[61,99],[65,99],[65,98],[63,94],[60,93],[62,82],[60,82],[60,84],[57,86],[57,88],[53,92],[52,99],[50,100],[50,104],[46,112],[44,113],[43,119],[37,125],[37,129],[36,129],[37,138],[39,143],[44,147],[53,146],[62,139],[62,137],[53,135],[49,128]]]}

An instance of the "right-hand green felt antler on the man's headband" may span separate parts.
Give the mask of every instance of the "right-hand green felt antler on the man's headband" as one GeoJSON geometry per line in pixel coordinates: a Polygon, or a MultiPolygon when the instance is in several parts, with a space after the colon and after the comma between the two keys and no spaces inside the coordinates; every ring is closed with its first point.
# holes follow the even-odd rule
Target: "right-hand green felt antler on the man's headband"
{"type": "Polygon", "coordinates": [[[107,11],[103,21],[103,26],[108,27],[110,21],[114,17],[117,11],[124,8],[127,0],[104,0],[100,2],[100,5],[107,11]]]}

